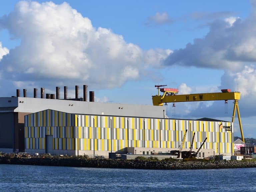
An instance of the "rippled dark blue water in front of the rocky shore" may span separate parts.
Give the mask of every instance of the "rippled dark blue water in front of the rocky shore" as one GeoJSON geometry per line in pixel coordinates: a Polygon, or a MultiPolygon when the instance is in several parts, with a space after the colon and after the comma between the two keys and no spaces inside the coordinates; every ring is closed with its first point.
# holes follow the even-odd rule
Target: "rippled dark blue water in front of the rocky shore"
{"type": "Polygon", "coordinates": [[[256,168],[136,170],[0,165],[0,191],[256,191],[256,168]]]}

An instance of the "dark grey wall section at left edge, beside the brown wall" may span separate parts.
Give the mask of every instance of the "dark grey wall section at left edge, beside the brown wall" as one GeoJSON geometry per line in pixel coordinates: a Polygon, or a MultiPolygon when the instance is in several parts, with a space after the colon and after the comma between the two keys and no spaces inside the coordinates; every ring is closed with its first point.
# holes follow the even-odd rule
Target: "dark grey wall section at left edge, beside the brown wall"
{"type": "Polygon", "coordinates": [[[14,147],[14,113],[0,113],[0,147],[14,147]]]}

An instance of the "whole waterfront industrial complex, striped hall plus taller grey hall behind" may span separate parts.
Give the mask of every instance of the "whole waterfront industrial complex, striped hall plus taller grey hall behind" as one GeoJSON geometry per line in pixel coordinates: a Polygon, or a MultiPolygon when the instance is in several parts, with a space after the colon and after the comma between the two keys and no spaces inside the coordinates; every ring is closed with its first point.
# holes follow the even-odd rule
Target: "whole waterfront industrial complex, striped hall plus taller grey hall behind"
{"type": "Polygon", "coordinates": [[[18,91],[17,97],[0,98],[0,151],[105,157],[169,153],[179,149],[188,130],[183,150],[189,150],[195,133],[193,151],[207,138],[199,157],[233,154],[232,122],[169,119],[163,106],[90,102],[86,93],[79,98],[76,89],[75,99],[59,99],[56,88],[57,99],[49,94],[45,99],[42,92],[41,98],[20,97],[18,91]]]}

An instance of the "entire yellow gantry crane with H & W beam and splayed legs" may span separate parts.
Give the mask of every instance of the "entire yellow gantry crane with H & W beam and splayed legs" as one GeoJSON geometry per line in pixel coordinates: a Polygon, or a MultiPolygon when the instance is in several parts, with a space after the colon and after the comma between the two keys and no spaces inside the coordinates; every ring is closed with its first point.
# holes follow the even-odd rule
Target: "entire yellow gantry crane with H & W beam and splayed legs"
{"type": "Polygon", "coordinates": [[[173,88],[160,88],[166,85],[155,85],[158,89],[158,95],[152,96],[153,105],[163,106],[164,103],[176,103],[176,102],[192,102],[192,101],[218,101],[224,100],[227,103],[228,100],[234,100],[234,109],[232,122],[234,123],[235,113],[237,110],[237,116],[240,126],[240,132],[242,141],[244,142],[244,135],[242,129],[242,123],[238,108],[238,100],[240,99],[240,92],[231,92],[230,89],[222,89],[219,93],[197,93],[197,94],[184,94],[177,95],[178,89],[173,88]],[[160,91],[163,95],[160,95],[160,91]]]}

